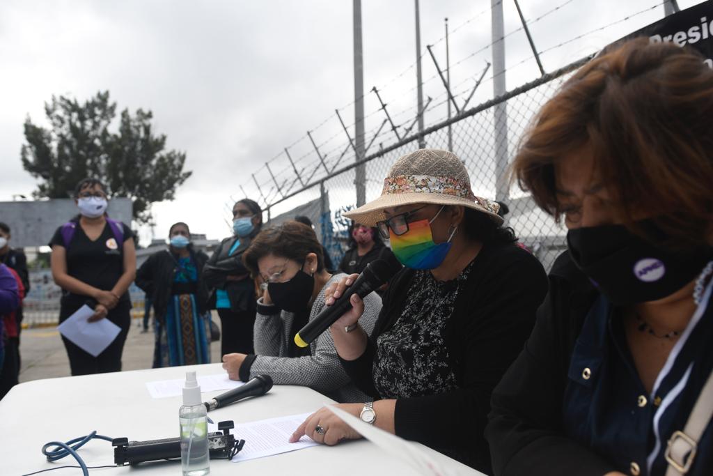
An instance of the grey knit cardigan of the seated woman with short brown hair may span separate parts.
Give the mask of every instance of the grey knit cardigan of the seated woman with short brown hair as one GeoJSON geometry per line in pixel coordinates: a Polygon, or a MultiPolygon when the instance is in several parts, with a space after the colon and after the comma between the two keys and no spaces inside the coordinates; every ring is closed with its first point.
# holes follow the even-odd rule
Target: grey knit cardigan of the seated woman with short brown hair
{"type": "MultiPolygon", "coordinates": [[[[327,285],[324,286],[322,291],[320,291],[312,305],[309,320],[314,319],[317,314],[319,314],[319,311],[324,308],[324,290],[334,281],[342,277],[344,277],[344,274],[334,275],[327,285]]],[[[359,323],[364,330],[366,330],[366,333],[370,334],[371,331],[374,330],[374,324],[376,323],[376,318],[379,316],[380,310],[381,298],[379,298],[376,293],[371,293],[364,298],[364,315],[359,319],[359,323]]],[[[270,316],[270,318],[274,319],[273,316],[270,316]]],[[[279,320],[284,320],[285,318],[291,319],[293,316],[291,313],[283,312],[279,320]]],[[[261,320],[261,316],[258,315],[257,319],[261,320]]],[[[274,325],[275,323],[265,319],[260,327],[265,329],[270,328],[272,333],[274,333],[274,325]]],[[[350,383],[349,376],[344,372],[344,368],[342,368],[342,364],[339,362],[337,350],[334,348],[334,340],[332,340],[332,333],[329,331],[319,335],[317,340],[314,340],[314,342],[309,345],[310,355],[288,358],[282,356],[287,355],[287,338],[289,338],[289,336],[286,335],[286,329],[289,328],[289,326],[285,326],[284,322],[282,323],[281,348],[279,349],[279,353],[273,353],[272,356],[265,355],[258,350],[257,328],[258,325],[256,321],[255,350],[257,357],[250,368],[250,378],[255,375],[267,374],[272,377],[276,385],[305,385],[321,393],[332,393],[350,383]]],[[[263,338],[265,338],[265,336],[262,335],[261,331],[260,340],[263,338]]],[[[276,341],[272,338],[270,342],[275,343],[276,341]]]]}

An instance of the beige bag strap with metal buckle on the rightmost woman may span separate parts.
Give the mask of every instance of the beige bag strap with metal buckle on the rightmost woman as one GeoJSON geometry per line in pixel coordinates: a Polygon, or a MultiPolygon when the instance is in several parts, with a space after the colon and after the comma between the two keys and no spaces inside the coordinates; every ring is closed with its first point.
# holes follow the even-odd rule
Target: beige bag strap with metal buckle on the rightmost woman
{"type": "Polygon", "coordinates": [[[688,416],[683,431],[671,435],[666,448],[668,470],[666,476],[685,475],[693,464],[698,450],[698,441],[713,417],[713,372],[703,386],[698,400],[688,416]]]}

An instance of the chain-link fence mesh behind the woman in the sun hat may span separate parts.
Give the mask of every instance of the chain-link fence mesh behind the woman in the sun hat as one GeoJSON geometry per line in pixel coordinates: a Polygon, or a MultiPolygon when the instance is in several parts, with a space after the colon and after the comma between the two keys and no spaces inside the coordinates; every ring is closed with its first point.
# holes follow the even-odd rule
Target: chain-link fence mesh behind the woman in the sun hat
{"type": "MultiPolygon", "coordinates": [[[[322,210],[320,238],[336,265],[344,255],[347,243],[349,220],[342,214],[356,207],[356,188],[359,185],[355,181],[357,166],[364,166],[366,201],[370,201],[381,194],[384,178],[391,165],[399,157],[419,148],[419,139],[423,138],[424,145],[429,148],[448,149],[448,144],[451,143],[453,153],[461,158],[468,169],[473,192],[478,196],[506,203],[510,210],[505,216],[506,226],[515,230],[520,242],[549,270],[557,255],[566,248],[565,230],[555,223],[552,217],[540,211],[516,183],[511,185],[506,180],[509,171],[506,163],[511,162],[520,138],[535,113],[558,91],[570,74],[589,59],[590,57],[587,57],[575,61],[499,98],[462,111],[451,119],[443,118],[426,128],[423,135],[416,133],[389,146],[382,143],[380,151],[367,155],[359,163],[355,161],[351,141],[346,145],[348,153],[335,156],[333,163],[323,160],[324,156],[315,148],[311,156],[316,159],[314,170],[304,166],[304,163],[309,163],[309,153],[300,157],[302,165],[297,164],[304,173],[312,175],[309,183],[283,196],[277,196],[275,193],[273,200],[270,200],[272,188],[263,196],[267,198],[268,204],[265,208],[268,217],[289,213],[302,203],[328,196],[328,200],[323,201],[329,203],[330,209],[322,210]],[[507,118],[506,128],[496,131],[496,124],[499,124],[496,116],[503,113],[507,118]],[[506,150],[503,144],[506,144],[506,150]],[[501,156],[500,165],[498,155],[501,156]]],[[[370,138],[367,135],[367,145],[373,138],[376,136],[370,138]]],[[[336,149],[339,150],[339,146],[336,149]]],[[[294,173],[297,176],[297,170],[294,173]]],[[[289,178],[285,180],[289,181],[289,178]]],[[[295,178],[292,183],[296,181],[295,178]]],[[[279,184],[275,182],[275,185],[279,184]]]]}

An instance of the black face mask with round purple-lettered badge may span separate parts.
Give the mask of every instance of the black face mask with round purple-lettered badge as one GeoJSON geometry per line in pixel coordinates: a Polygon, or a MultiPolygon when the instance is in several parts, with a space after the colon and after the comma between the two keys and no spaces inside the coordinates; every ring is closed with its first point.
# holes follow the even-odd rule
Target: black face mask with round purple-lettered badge
{"type": "MultiPolygon", "coordinates": [[[[645,229],[662,238],[650,222],[645,229]]],[[[713,255],[709,247],[669,250],[652,245],[623,225],[575,228],[567,233],[570,255],[615,305],[665,298],[690,283],[713,255]]]]}

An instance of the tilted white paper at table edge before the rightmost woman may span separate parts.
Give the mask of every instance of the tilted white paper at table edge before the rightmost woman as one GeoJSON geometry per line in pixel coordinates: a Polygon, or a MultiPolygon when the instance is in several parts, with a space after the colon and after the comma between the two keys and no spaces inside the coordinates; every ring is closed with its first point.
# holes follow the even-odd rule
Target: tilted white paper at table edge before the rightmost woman
{"type": "Polygon", "coordinates": [[[439,462],[434,460],[429,455],[426,455],[423,448],[420,445],[415,445],[412,442],[408,442],[403,438],[396,435],[391,435],[391,433],[381,430],[381,428],[374,427],[365,422],[359,420],[359,418],[351,415],[341,408],[335,407],[334,405],[324,405],[327,409],[341,418],[347,425],[352,427],[352,429],[359,433],[359,435],[365,437],[367,440],[374,443],[374,445],[381,448],[390,455],[399,458],[399,460],[404,461],[409,465],[414,472],[409,474],[413,475],[423,475],[423,476],[456,476],[456,475],[481,475],[482,473],[471,470],[470,468],[463,470],[456,470],[453,468],[444,468],[439,462]]]}

